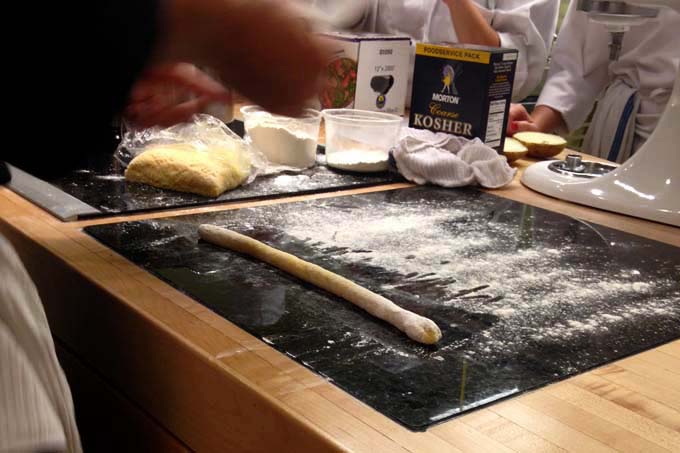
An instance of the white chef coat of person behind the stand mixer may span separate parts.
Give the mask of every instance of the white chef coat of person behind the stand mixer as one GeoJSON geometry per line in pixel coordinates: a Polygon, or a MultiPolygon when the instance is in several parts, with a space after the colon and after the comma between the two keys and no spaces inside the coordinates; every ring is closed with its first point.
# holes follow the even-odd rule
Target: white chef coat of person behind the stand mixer
{"type": "Polygon", "coordinates": [[[605,87],[619,79],[639,96],[635,118],[639,144],[654,130],[673,88],[680,62],[680,14],[662,8],[656,19],[632,27],[615,62],[609,61],[609,39],[605,27],[589,21],[572,1],[537,104],[559,111],[573,131],[583,124],[605,87]]]}

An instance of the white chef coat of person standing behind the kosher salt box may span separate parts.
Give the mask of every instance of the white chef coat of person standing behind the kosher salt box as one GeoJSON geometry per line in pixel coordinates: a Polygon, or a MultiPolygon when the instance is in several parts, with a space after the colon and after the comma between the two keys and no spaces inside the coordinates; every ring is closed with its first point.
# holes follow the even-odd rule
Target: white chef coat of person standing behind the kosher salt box
{"type": "MultiPolygon", "coordinates": [[[[501,47],[519,51],[513,99],[524,99],[543,77],[557,24],[559,1],[474,1],[486,21],[498,32],[501,47]]],[[[449,8],[441,0],[370,0],[368,13],[359,28],[408,34],[418,42],[458,41],[449,8]]],[[[411,63],[413,70],[413,61],[411,63]]]]}

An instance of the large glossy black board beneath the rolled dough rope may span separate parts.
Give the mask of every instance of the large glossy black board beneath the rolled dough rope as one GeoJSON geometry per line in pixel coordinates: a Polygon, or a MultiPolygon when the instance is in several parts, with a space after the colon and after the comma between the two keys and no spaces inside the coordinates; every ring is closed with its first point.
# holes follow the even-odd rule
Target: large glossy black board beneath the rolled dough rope
{"type": "Polygon", "coordinates": [[[476,190],[413,188],[89,227],[412,430],[680,337],[680,250],[476,190]],[[433,319],[437,347],[198,240],[231,227],[433,319]]]}

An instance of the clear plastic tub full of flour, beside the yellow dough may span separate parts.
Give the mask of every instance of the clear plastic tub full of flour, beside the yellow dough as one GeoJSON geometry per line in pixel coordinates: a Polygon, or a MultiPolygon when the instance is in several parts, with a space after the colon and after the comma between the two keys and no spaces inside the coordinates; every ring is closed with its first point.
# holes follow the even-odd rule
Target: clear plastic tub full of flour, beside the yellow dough
{"type": "Polygon", "coordinates": [[[300,118],[271,114],[261,107],[241,108],[247,139],[274,166],[303,169],[316,163],[321,113],[305,109],[300,118]]]}

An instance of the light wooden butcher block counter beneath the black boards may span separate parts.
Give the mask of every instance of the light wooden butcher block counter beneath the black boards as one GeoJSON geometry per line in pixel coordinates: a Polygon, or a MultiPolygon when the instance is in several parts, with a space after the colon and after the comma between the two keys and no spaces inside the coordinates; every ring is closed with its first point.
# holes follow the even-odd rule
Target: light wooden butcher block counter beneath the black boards
{"type": "MultiPolygon", "coordinates": [[[[518,173],[530,163],[517,162],[518,173]]],[[[217,452],[680,451],[678,340],[413,431],[83,231],[408,187],[388,184],[70,223],[0,188],[0,232],[38,286],[74,389],[86,446],[217,452]]],[[[542,196],[523,187],[519,174],[492,193],[680,247],[678,228],[542,196]]]]}

